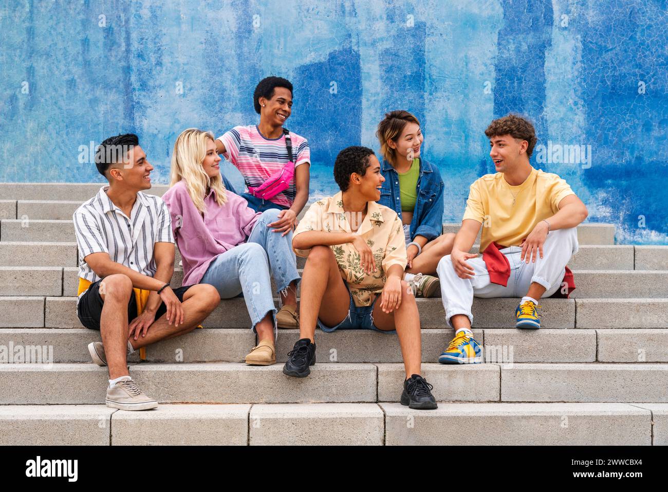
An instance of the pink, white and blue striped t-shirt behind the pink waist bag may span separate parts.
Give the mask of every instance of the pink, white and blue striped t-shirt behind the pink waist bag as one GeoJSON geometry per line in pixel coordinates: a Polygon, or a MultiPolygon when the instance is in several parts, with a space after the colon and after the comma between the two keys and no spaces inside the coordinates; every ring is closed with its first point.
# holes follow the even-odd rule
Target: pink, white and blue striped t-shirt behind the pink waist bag
{"type": "MultiPolygon", "coordinates": [[[[311,150],[306,138],[293,132],[290,132],[290,138],[295,168],[304,162],[311,162],[311,150]]],[[[225,146],[226,153],[223,156],[244,176],[246,187],[259,187],[288,162],[285,135],[265,138],[257,125],[235,126],[219,136],[218,140],[225,146]]],[[[293,178],[289,188],[272,197],[271,201],[289,208],[295,201],[295,195],[297,187],[293,178]]]]}

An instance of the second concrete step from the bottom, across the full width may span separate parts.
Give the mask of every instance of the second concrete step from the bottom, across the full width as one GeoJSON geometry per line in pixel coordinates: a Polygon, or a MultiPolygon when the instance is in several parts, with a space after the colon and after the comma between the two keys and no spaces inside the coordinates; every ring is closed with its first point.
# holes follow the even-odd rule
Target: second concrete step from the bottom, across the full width
{"type": "MultiPolygon", "coordinates": [[[[307,378],[282,364],[130,364],[146,394],[164,403],[397,402],[403,364],[319,362],[307,378]]],[[[668,364],[422,364],[438,401],[668,402],[668,364]]],[[[95,364],[0,364],[0,405],[97,404],[108,372],[95,364]]]]}

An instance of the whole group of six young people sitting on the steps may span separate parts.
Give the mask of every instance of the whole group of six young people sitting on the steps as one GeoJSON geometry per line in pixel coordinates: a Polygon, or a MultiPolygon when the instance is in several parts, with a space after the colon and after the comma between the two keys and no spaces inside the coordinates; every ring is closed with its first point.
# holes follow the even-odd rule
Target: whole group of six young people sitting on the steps
{"type": "Polygon", "coordinates": [[[333,166],[339,193],[315,201],[298,220],[309,200],[310,152],[307,140],[284,126],[293,86],[265,78],[253,104],[259,124],[219,138],[196,128],[178,136],[162,199],[144,193],[153,167],[136,135],[98,147],[96,166],[109,184],[75,211],[73,222],[77,316],[100,330],[102,341],[88,349],[96,364],[108,366],[108,406],[156,408],[130,377],[127,356],[190,332],[220,299],[242,294],[258,341],[246,364],[276,363],[277,328],[299,328],[283,368],[299,378],[315,364],[316,328],[397,334],[405,366],[401,404],[437,408],[421,372],[416,296],[440,293],[444,322],[454,328],[438,361],[477,364],[474,296],[522,297],[515,326],[535,329],[538,299],[574,288],[566,264],[587,208],[563,179],[530,165],[536,135],[525,118],[510,114],[485,130],[497,172],[471,185],[454,235],[443,233],[445,185],[422,159],[424,136],[409,112],[385,114],[379,156],[363,146],[341,150],[333,166]],[[240,170],[247,191],[237,195],[221,174],[220,154],[240,170]],[[470,252],[481,227],[482,256],[470,252]],[[183,268],[176,289],[174,243],[183,268]],[[301,277],[295,254],[307,257],[301,277]]]}

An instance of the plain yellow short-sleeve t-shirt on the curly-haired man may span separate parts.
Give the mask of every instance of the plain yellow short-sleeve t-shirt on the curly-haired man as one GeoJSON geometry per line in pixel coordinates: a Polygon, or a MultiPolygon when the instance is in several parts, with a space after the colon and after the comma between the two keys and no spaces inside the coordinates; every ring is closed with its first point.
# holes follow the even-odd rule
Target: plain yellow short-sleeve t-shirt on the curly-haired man
{"type": "Polygon", "coordinates": [[[506,182],[502,172],[485,174],[471,185],[462,220],[482,224],[480,251],[495,241],[519,246],[538,222],[558,212],[560,201],[568,195],[574,195],[568,183],[551,172],[531,168],[528,178],[516,187],[506,182]]]}

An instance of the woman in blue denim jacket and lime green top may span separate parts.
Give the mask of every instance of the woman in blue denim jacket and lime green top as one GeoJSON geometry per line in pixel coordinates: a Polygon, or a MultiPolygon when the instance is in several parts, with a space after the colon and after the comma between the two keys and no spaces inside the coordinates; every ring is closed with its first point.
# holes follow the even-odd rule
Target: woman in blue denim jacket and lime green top
{"type": "Polygon", "coordinates": [[[444,184],[436,166],[420,158],[424,136],[420,122],[407,111],[385,114],[376,133],[385,157],[379,203],[393,209],[403,223],[408,263],[404,279],[418,297],[440,291],[438,261],[452,251],[455,235],[443,230],[444,184]]]}

